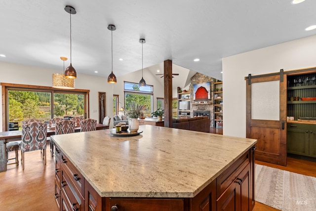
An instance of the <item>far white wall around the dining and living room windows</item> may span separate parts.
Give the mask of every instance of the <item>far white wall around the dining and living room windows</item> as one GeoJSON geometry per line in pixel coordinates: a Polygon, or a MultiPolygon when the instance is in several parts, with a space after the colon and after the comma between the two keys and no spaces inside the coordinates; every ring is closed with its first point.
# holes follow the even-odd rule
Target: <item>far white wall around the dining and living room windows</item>
{"type": "MultiPolygon", "coordinates": [[[[60,70],[0,62],[0,83],[51,86],[53,73],[60,73],[60,70]]],[[[119,94],[119,102],[124,103],[123,81],[138,83],[140,79],[141,71],[117,77],[117,84],[109,84],[107,78],[77,74],[75,83],[78,89],[90,90],[89,117],[92,119],[99,119],[98,92],[106,92],[106,115],[111,117],[111,128],[113,126],[113,94],[119,94]]],[[[146,72],[144,72],[144,79],[146,83],[154,85],[153,101],[154,109],[157,109],[157,97],[163,97],[163,86],[156,79],[153,79],[151,74],[146,74],[146,72]]],[[[0,103],[2,105],[2,98],[0,98],[0,103]]],[[[0,107],[0,112],[2,113],[2,107],[0,107]]],[[[2,115],[0,119],[0,131],[2,131],[2,115]]]]}

